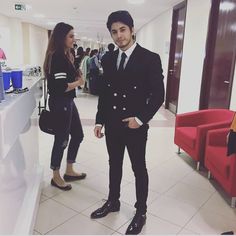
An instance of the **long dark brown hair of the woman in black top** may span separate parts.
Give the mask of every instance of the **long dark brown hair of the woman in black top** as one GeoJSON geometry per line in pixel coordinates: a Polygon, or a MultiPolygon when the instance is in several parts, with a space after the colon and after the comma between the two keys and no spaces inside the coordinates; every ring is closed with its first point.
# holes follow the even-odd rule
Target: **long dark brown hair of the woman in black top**
{"type": "MultiPolygon", "coordinates": [[[[53,53],[59,52],[63,55],[65,54],[65,40],[67,34],[73,30],[73,27],[71,25],[68,25],[64,22],[58,23],[54,30],[52,31],[52,34],[50,36],[48,47],[46,51],[46,56],[43,64],[44,74],[47,76],[49,74],[49,69],[51,66],[51,58],[53,53]]],[[[71,52],[68,51],[68,59],[71,60],[71,52]]]]}

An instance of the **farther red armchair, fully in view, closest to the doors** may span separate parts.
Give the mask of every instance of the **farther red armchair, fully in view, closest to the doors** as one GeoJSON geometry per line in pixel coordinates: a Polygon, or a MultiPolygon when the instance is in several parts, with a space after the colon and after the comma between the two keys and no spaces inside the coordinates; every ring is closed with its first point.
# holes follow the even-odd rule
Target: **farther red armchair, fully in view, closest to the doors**
{"type": "Polygon", "coordinates": [[[229,127],[234,112],[227,109],[208,109],[179,114],[175,120],[174,143],[197,161],[197,170],[204,164],[208,130],[229,127]]]}

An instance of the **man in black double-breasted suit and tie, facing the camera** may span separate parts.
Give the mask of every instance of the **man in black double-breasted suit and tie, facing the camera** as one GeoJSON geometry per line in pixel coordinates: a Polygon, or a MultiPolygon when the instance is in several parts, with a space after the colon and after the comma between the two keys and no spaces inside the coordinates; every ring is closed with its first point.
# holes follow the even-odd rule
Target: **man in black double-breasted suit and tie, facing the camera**
{"type": "Polygon", "coordinates": [[[99,96],[95,136],[105,126],[109,154],[109,196],[91,214],[101,218],[120,210],[120,183],[125,147],[135,175],[136,214],[126,234],[139,234],[146,222],[148,173],[145,162],[148,122],[164,101],[161,60],[158,54],[134,41],[134,25],[127,11],[110,14],[107,28],[118,50],[103,63],[103,89],[99,96]]]}

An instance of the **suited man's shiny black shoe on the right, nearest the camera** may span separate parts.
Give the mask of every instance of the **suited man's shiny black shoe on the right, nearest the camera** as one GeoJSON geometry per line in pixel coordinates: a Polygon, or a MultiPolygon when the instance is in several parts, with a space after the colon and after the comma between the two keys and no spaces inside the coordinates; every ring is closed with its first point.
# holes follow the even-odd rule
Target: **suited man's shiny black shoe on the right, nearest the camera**
{"type": "Polygon", "coordinates": [[[139,234],[146,223],[146,215],[136,213],[125,234],[139,234]]]}

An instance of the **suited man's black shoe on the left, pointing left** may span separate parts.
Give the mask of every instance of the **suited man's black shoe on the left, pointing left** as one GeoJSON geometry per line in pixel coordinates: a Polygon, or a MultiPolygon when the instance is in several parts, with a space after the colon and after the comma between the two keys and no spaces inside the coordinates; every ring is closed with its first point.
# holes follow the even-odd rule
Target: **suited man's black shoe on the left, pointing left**
{"type": "Polygon", "coordinates": [[[106,201],[106,203],[101,207],[98,208],[96,211],[94,211],[90,217],[92,219],[98,219],[106,216],[110,212],[116,212],[120,210],[120,202],[117,201],[116,203],[113,203],[111,201],[106,201]]]}

